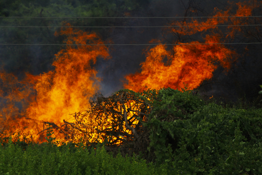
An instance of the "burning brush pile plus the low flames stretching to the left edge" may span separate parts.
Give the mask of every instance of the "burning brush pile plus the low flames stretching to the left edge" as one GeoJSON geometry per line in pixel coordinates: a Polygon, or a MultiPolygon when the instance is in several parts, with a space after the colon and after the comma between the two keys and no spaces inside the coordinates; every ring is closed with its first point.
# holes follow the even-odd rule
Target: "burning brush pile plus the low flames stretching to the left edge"
{"type": "Polygon", "coordinates": [[[123,155],[132,155],[134,152],[145,154],[149,147],[149,130],[143,123],[147,122],[153,110],[152,103],[156,99],[157,92],[150,89],[143,92],[125,89],[115,92],[110,97],[95,94],[90,98],[87,110],[70,114],[70,122],[63,119],[59,126],[56,122],[48,120],[37,122],[31,118],[22,118],[23,120],[13,122],[27,124],[27,127],[16,130],[16,133],[10,133],[11,129],[3,122],[1,137],[7,136],[5,138],[9,139],[9,131],[10,136],[13,134],[14,142],[21,139],[41,143],[51,138],[57,145],[74,143],[95,146],[97,143],[105,143],[107,150],[117,152],[118,148],[121,148],[123,155]],[[31,126],[32,124],[34,125],[31,126]],[[50,137],[51,131],[53,135],[50,137]],[[17,134],[20,133],[23,134],[19,138],[17,134]]]}

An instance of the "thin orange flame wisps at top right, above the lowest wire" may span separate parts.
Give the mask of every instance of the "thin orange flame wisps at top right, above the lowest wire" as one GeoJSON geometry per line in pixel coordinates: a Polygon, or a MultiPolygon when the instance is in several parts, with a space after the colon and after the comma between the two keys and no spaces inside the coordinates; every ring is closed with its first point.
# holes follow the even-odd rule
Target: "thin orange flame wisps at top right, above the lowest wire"
{"type": "MultiPolygon", "coordinates": [[[[192,35],[197,32],[205,32],[207,30],[210,30],[212,33],[220,33],[221,30],[219,30],[219,26],[214,25],[229,25],[226,27],[228,30],[226,33],[226,37],[224,39],[227,39],[229,36],[234,37],[235,32],[241,30],[240,26],[232,26],[232,25],[245,25],[245,24],[254,24],[254,18],[248,17],[252,15],[252,10],[255,8],[258,8],[262,5],[262,2],[258,2],[256,0],[253,1],[244,1],[244,2],[238,2],[238,3],[230,3],[230,6],[227,7],[227,10],[219,10],[218,8],[214,9],[214,15],[213,17],[210,17],[206,19],[205,21],[200,21],[196,18],[187,19],[183,21],[175,21],[171,23],[171,26],[185,26],[185,27],[179,27],[179,28],[172,28],[171,31],[175,32],[177,34],[182,35],[192,35]],[[236,7],[235,7],[236,6],[236,7]],[[234,8],[237,8],[235,13],[232,13],[232,11],[235,11],[234,8]],[[236,17],[228,17],[228,16],[236,16],[236,17]],[[238,18],[239,16],[246,16],[238,18]],[[186,27],[186,26],[197,26],[197,27],[186,27]],[[216,32],[219,31],[219,32],[216,32]]],[[[256,19],[257,20],[257,19],[256,19]]],[[[220,35],[220,40],[223,39],[222,35],[220,35]]]]}

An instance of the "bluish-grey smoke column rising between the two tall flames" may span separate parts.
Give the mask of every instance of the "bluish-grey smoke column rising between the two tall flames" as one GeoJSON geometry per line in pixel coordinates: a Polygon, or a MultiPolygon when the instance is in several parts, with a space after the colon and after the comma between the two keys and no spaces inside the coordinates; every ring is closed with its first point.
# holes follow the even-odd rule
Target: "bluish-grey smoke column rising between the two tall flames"
{"type": "MultiPolygon", "coordinates": [[[[170,17],[179,16],[182,8],[178,2],[152,1],[146,10],[136,11],[134,17],[170,17]]],[[[125,19],[125,26],[165,26],[165,18],[125,19]]],[[[120,23],[120,22],[116,22],[120,23]]],[[[115,44],[148,44],[152,39],[163,40],[162,28],[113,28],[109,34],[115,44]]],[[[111,95],[123,88],[126,82],[125,76],[140,71],[140,63],[146,60],[144,53],[147,48],[153,46],[114,46],[111,49],[110,60],[100,60],[96,69],[98,76],[102,77],[100,92],[105,96],[111,95]]]]}

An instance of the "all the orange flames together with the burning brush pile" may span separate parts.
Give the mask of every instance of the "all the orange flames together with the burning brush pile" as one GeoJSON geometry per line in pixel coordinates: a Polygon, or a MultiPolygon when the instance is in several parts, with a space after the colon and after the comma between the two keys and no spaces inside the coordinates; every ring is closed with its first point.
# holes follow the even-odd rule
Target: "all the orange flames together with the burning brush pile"
{"type": "MultiPolygon", "coordinates": [[[[146,148],[148,133],[142,123],[147,122],[151,103],[156,98],[155,91],[150,89],[181,90],[187,84],[192,90],[211,79],[219,66],[226,73],[239,55],[223,43],[259,30],[236,26],[258,23],[255,17],[248,17],[261,6],[261,2],[254,2],[253,5],[246,1],[236,3],[237,8],[232,4],[226,10],[215,9],[211,18],[171,21],[169,26],[183,26],[165,31],[173,34],[173,43],[179,45],[148,48],[141,72],[125,77],[128,83],[124,88],[128,90],[120,90],[107,98],[98,96],[89,101],[98,92],[100,81],[92,65],[98,57],[110,58],[108,48],[103,45],[67,46],[55,55],[54,70],[38,76],[26,74],[23,80],[1,71],[0,132],[8,135],[21,131],[31,141],[41,143],[46,141],[47,127],[51,125],[59,143],[105,142],[118,147],[137,141],[141,144],[132,149],[146,148]],[[193,39],[199,32],[203,37],[193,39]],[[150,89],[139,92],[143,86],[150,89]]],[[[55,35],[66,36],[66,44],[105,43],[95,33],[72,28],[62,29],[55,35]]]]}

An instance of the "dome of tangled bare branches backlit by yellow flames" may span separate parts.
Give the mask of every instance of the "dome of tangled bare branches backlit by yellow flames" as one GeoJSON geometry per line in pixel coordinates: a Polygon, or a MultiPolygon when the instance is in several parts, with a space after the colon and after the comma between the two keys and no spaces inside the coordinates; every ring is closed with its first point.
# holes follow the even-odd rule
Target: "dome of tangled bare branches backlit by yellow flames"
{"type": "Polygon", "coordinates": [[[66,133],[74,135],[74,142],[81,140],[87,145],[104,141],[109,146],[129,144],[147,133],[142,123],[152,110],[150,103],[130,90],[121,90],[107,98],[98,95],[90,101],[90,109],[73,114],[74,122],[64,120],[70,126],[66,133]]]}

